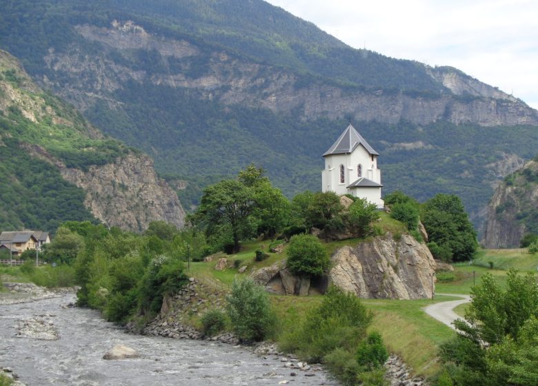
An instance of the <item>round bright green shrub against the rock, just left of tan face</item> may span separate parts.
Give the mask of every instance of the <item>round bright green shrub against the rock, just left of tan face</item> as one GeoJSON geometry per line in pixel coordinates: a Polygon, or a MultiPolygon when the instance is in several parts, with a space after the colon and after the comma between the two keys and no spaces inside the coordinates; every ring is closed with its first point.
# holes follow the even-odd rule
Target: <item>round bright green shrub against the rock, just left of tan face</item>
{"type": "Polygon", "coordinates": [[[321,276],[330,264],[327,251],[316,236],[297,234],[288,245],[288,267],[294,274],[321,276]]]}

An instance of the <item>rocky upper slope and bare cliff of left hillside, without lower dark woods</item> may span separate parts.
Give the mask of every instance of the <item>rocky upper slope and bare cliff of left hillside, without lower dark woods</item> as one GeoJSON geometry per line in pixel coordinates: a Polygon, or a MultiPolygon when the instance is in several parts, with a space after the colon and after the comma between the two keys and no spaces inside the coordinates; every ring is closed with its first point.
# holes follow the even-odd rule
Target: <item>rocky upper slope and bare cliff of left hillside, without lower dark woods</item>
{"type": "Polygon", "coordinates": [[[3,136],[16,138],[18,151],[55,165],[63,179],[86,192],[84,204],[106,225],[135,232],[145,230],[150,221],[156,220],[183,226],[185,212],[177,194],[159,179],[148,156],[135,154],[119,143],[115,145],[121,148],[117,153],[121,156],[104,164],[99,161],[100,165],[68,167],[53,156],[50,150],[61,148],[83,157],[106,139],[70,106],[46,95],[19,62],[4,51],[0,51],[0,116],[10,125],[0,126],[0,145],[5,145],[3,136]],[[20,122],[12,119],[11,110],[20,112],[22,118],[16,118],[20,122]]]}

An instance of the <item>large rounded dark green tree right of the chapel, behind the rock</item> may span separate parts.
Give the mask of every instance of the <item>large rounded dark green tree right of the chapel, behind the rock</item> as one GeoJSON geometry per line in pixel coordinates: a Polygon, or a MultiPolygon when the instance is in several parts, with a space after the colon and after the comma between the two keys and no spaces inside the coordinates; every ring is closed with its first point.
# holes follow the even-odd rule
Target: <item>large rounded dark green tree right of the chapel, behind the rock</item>
{"type": "Polygon", "coordinates": [[[449,249],[452,260],[472,258],[478,247],[477,233],[458,196],[437,194],[424,203],[420,217],[428,239],[449,249]]]}

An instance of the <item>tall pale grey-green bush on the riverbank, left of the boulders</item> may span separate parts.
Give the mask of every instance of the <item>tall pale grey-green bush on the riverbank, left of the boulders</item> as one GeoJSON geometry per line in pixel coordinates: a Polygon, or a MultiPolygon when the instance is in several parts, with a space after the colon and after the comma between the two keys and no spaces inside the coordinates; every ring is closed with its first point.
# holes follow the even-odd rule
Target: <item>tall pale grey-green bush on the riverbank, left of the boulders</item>
{"type": "Polygon", "coordinates": [[[255,285],[251,278],[234,280],[226,296],[226,311],[238,338],[263,341],[275,331],[276,316],[266,290],[255,285]]]}

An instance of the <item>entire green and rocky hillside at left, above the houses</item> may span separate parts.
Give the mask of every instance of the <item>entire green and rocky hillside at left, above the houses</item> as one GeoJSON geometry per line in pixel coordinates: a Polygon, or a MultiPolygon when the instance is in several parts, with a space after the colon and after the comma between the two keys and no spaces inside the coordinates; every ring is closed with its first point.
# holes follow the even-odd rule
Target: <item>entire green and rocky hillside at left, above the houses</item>
{"type": "Polygon", "coordinates": [[[183,224],[183,209],[152,161],[103,136],[43,92],[0,51],[0,229],[55,230],[68,220],[140,231],[183,224]]]}

